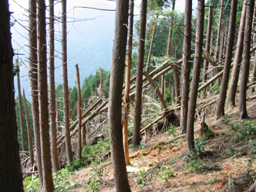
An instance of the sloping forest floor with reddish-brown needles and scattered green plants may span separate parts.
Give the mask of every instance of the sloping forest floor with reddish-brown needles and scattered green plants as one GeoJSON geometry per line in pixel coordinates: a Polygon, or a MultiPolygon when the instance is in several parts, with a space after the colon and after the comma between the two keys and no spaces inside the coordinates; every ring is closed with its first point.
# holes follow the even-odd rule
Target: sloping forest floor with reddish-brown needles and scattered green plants
{"type": "MultiPolygon", "coordinates": [[[[187,153],[186,138],[180,136],[179,128],[174,134],[167,131],[143,136],[140,149],[130,149],[131,164],[126,168],[131,190],[248,190],[256,170],[256,99],[249,99],[247,104],[250,118],[242,123],[238,106],[226,109],[221,120],[215,120],[215,110],[207,111],[205,122],[212,132],[204,139],[200,136],[200,120],[194,124],[197,158],[187,153]]],[[[71,191],[115,191],[111,157],[99,166],[75,171],[69,181],[81,186],[71,191]]]]}

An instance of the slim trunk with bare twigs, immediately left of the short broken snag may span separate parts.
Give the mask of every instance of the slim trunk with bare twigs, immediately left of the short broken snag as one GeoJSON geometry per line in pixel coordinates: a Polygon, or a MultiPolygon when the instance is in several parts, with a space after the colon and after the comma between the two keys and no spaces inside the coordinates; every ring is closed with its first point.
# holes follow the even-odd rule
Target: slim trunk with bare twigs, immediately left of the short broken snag
{"type": "Polygon", "coordinates": [[[63,82],[63,110],[64,110],[64,126],[66,140],[66,156],[69,167],[72,163],[72,148],[69,132],[69,85],[68,85],[68,67],[66,52],[66,0],[62,0],[62,82],[63,82]]]}

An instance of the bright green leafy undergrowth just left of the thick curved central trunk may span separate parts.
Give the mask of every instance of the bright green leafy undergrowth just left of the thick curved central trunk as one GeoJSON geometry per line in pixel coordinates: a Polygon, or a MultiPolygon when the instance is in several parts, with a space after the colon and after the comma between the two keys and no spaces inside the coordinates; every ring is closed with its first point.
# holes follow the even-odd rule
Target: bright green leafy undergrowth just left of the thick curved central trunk
{"type": "Polygon", "coordinates": [[[83,147],[83,162],[86,164],[99,164],[103,162],[104,154],[110,150],[109,141],[100,139],[96,145],[83,147]]]}

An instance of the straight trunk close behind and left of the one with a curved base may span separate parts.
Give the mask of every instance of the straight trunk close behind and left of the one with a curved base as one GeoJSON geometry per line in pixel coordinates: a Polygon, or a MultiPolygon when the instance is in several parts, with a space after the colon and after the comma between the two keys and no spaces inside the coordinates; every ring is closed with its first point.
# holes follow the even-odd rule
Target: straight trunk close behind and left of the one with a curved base
{"type": "Polygon", "coordinates": [[[185,3],[185,21],[184,21],[184,42],[181,69],[181,103],[180,103],[180,133],[187,130],[187,109],[188,94],[190,86],[190,47],[191,47],[191,18],[192,18],[192,0],[186,0],[185,3]]]}

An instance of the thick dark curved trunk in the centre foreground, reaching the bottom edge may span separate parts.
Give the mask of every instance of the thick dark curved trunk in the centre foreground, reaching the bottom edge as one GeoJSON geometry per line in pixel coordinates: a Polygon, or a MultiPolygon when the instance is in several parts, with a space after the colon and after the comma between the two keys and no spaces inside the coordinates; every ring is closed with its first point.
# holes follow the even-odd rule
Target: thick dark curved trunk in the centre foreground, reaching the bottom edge
{"type": "Polygon", "coordinates": [[[122,90],[126,56],[128,0],[116,1],[116,22],[109,89],[109,138],[116,192],[130,192],[123,152],[122,90]]]}

